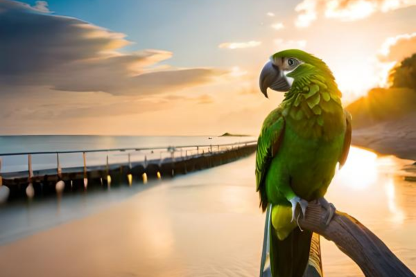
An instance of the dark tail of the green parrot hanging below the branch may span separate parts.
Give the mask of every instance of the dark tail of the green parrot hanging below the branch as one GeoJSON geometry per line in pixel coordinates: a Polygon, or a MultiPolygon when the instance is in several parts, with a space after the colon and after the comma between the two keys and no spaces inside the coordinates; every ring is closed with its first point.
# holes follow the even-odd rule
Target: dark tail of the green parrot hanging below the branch
{"type": "Polygon", "coordinates": [[[311,231],[293,231],[284,240],[270,224],[270,265],[273,277],[302,277],[309,260],[311,249],[311,231]]]}

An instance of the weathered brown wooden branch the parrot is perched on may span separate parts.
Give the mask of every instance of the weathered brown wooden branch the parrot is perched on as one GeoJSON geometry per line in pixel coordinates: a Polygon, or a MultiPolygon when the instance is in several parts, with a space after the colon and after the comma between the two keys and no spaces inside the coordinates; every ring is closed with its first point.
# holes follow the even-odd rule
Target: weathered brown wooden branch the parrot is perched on
{"type": "Polygon", "coordinates": [[[366,277],[415,277],[372,231],[354,217],[337,211],[330,224],[325,226],[325,212],[320,204],[310,202],[306,217],[299,220],[300,226],[333,241],[356,262],[366,277]]]}

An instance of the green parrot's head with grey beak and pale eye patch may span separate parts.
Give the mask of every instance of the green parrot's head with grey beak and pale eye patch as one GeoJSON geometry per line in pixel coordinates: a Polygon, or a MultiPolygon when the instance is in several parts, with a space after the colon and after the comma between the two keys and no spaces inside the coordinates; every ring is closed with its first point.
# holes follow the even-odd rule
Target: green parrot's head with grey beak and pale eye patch
{"type": "Polygon", "coordinates": [[[268,97],[267,89],[289,91],[297,78],[320,73],[333,80],[327,64],[314,55],[298,49],[275,53],[266,62],[260,73],[260,90],[268,97]]]}

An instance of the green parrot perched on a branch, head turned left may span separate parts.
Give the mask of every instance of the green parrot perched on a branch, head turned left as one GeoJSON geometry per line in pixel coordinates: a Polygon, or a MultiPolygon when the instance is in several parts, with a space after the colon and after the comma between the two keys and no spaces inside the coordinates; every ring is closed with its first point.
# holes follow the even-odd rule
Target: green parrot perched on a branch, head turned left
{"type": "Polygon", "coordinates": [[[312,232],[297,228],[297,205],[305,215],[308,202],[320,202],[329,224],[335,207],[324,195],[347,160],[351,116],[327,64],[297,49],[270,57],[261,71],[260,89],[285,91],[270,112],[259,136],[256,183],[263,211],[272,205],[270,264],[274,277],[303,276],[312,232]]]}

